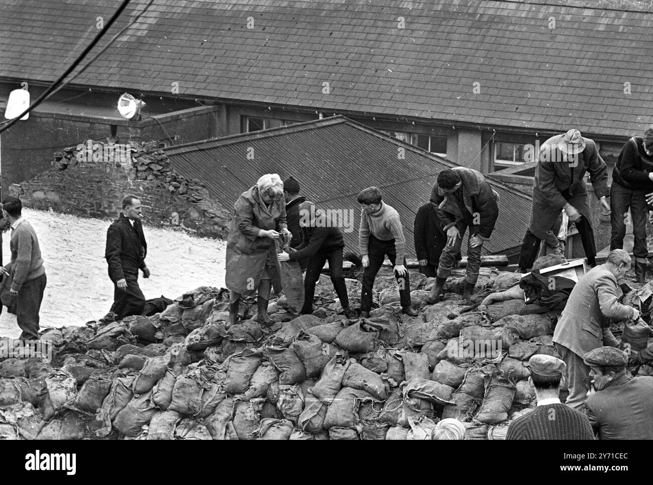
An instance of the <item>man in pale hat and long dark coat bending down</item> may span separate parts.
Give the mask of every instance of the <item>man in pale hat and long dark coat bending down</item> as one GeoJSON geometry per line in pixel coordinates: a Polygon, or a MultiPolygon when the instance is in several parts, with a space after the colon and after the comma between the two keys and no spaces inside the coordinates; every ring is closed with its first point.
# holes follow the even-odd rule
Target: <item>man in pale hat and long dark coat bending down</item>
{"type": "Polygon", "coordinates": [[[522,242],[519,272],[526,273],[533,266],[542,240],[552,249],[558,249],[561,242],[553,229],[562,210],[570,222],[576,223],[588,264],[596,265],[586,172],[590,172],[594,195],[605,210],[609,210],[607,166],[593,140],[583,138],[578,130],[572,129],[552,136],[541,146],[535,168],[531,220],[522,242]]]}

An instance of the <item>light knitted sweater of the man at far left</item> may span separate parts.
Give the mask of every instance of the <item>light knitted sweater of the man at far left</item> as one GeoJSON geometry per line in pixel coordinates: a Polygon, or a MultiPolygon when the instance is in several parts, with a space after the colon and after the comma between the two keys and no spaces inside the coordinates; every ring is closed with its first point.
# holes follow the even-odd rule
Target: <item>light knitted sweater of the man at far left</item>
{"type": "Polygon", "coordinates": [[[11,289],[20,291],[25,281],[45,274],[39,239],[32,225],[23,220],[11,234],[11,262],[5,268],[12,274],[11,289]]]}

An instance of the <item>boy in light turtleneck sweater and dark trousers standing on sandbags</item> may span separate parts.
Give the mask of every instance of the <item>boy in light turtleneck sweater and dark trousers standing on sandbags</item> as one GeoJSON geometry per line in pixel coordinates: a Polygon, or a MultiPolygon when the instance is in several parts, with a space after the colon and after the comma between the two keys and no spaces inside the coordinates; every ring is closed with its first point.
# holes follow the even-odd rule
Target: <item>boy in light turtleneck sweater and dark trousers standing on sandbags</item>
{"type": "Polygon", "coordinates": [[[378,187],[368,187],[358,194],[360,211],[360,230],[358,243],[364,269],[360,295],[360,316],[367,318],[372,309],[372,288],[374,279],[381,269],[387,255],[399,286],[402,312],[417,317],[411,307],[410,279],[404,258],[404,230],[399,213],[381,200],[378,187]]]}

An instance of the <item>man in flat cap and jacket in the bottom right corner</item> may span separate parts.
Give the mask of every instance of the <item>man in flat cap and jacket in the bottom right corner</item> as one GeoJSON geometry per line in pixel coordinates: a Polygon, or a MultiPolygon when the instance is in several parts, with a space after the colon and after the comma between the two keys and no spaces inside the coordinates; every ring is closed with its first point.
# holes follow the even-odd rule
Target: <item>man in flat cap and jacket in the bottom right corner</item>
{"type": "Polygon", "coordinates": [[[599,439],[653,439],[653,377],[632,377],[628,355],[599,347],[583,356],[594,379],[585,413],[599,439]]]}

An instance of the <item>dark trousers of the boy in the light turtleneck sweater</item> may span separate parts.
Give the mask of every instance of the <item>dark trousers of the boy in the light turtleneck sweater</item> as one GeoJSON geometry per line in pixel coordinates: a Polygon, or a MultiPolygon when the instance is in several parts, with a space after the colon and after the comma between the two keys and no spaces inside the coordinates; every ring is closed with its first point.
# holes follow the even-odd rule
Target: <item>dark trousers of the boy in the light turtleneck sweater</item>
{"type": "MultiPolygon", "coordinates": [[[[370,258],[370,266],[365,268],[363,272],[362,290],[360,292],[360,311],[370,311],[372,309],[372,288],[374,288],[374,279],[376,274],[383,266],[385,256],[396,266],[395,259],[397,257],[394,249],[394,239],[389,241],[381,241],[372,234],[370,234],[370,242],[368,243],[368,257],[370,258]]],[[[406,266],[406,258],[402,262],[406,266]]],[[[407,307],[411,304],[410,301],[410,279],[408,274],[401,276],[395,272],[394,277],[397,279],[399,286],[399,297],[402,307],[407,307]]]]}

